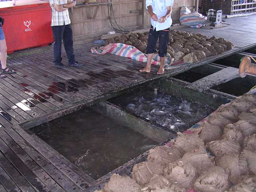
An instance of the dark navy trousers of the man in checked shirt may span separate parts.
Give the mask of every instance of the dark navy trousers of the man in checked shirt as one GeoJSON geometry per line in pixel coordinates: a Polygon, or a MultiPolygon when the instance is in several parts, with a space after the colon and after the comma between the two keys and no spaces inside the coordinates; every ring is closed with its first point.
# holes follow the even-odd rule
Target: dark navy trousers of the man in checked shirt
{"type": "Polygon", "coordinates": [[[61,58],[61,43],[63,39],[64,48],[68,57],[69,64],[74,64],[76,62],[74,49],[73,49],[73,32],[71,24],[52,26],[53,36],[54,36],[54,63],[60,64],[62,61],[61,58]]]}

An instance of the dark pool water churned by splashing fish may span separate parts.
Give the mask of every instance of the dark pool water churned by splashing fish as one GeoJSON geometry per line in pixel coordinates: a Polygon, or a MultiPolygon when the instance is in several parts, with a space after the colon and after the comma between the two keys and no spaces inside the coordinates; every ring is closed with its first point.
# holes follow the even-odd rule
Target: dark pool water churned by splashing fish
{"type": "Polygon", "coordinates": [[[158,90],[144,88],[109,100],[130,114],[136,114],[174,131],[184,131],[214,110],[158,90]]]}

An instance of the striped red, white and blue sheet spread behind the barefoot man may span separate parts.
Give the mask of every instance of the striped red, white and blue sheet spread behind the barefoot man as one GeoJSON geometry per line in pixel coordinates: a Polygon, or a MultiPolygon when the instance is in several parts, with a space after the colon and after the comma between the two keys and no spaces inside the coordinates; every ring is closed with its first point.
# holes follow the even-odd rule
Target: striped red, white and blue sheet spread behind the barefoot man
{"type": "MultiPolygon", "coordinates": [[[[122,43],[112,43],[108,44],[104,47],[100,48],[91,48],[91,52],[93,54],[106,54],[106,53],[111,53],[114,55],[122,56],[122,57],[127,57],[136,61],[140,62],[147,62],[147,55],[139,51],[136,47],[131,46],[131,45],[126,45],[122,43]]],[[[165,69],[170,69],[170,68],[178,68],[180,66],[183,66],[184,63],[177,63],[173,64],[173,58],[170,56],[170,54],[167,54],[166,56],[166,63],[164,68],[165,69]],[[178,65],[178,66],[177,66],[178,65]]],[[[160,65],[160,56],[158,54],[154,54],[154,57],[152,59],[152,64],[154,65],[160,65]]]]}

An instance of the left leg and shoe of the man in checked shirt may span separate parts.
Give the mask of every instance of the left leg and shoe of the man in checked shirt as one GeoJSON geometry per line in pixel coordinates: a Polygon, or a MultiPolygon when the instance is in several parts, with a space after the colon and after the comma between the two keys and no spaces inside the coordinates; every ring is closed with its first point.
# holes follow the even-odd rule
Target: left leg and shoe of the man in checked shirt
{"type": "Polygon", "coordinates": [[[53,46],[53,54],[54,54],[54,64],[57,67],[65,68],[66,66],[62,64],[61,58],[61,43],[64,33],[64,25],[60,26],[52,26],[52,32],[54,36],[54,46],[53,46]]]}

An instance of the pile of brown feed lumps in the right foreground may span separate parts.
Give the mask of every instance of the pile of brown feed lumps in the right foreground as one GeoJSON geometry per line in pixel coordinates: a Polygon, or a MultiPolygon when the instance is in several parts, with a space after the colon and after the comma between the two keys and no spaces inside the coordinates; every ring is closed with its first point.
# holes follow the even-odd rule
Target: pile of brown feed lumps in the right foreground
{"type": "Polygon", "coordinates": [[[240,96],[200,124],[152,148],[132,178],[112,175],[100,192],[256,192],[256,96],[240,96]]]}

